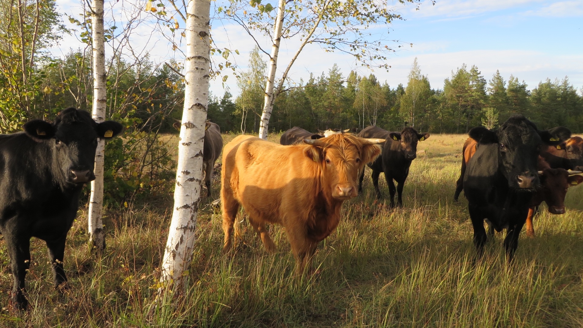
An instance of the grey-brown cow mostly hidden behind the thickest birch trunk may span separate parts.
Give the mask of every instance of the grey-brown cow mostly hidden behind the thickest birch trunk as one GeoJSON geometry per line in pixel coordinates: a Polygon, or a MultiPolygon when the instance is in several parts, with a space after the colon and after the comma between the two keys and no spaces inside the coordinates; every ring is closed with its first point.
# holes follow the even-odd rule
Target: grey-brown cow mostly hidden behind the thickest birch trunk
{"type": "MultiPolygon", "coordinates": [[[[172,126],[180,131],[181,121],[176,120],[172,126]]],[[[206,120],[205,125],[205,144],[202,149],[202,170],[205,172],[206,196],[210,197],[210,182],[215,169],[215,162],[223,150],[223,137],[220,135],[218,124],[206,120]]]]}

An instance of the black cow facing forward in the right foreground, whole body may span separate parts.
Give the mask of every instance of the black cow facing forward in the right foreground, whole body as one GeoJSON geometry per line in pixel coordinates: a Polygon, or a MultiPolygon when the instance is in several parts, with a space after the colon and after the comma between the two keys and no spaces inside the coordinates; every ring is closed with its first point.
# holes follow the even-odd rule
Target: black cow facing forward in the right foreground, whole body
{"type": "Polygon", "coordinates": [[[518,247],[518,235],[526,221],[535,187],[539,184],[537,159],[545,144],[558,144],[557,134],[571,134],[558,127],[539,131],[524,116],[508,118],[495,131],[484,127],[470,130],[478,142],[463,176],[463,193],[474,231],[474,245],[482,256],[487,241],[484,219],[496,231],[507,229],[504,246],[508,261],[518,247]]]}

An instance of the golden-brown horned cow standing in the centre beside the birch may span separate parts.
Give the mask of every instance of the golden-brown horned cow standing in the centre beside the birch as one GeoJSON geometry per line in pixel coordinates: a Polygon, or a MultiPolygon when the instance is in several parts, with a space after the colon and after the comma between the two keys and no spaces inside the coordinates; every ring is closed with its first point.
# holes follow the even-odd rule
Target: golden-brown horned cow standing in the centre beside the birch
{"type": "Polygon", "coordinates": [[[301,271],[318,242],[336,229],[345,200],[357,196],[356,178],[364,164],[381,153],[384,139],[334,134],[282,146],[250,135],[239,135],[224,148],[221,189],[224,247],[231,250],[233,224],[239,207],[268,252],[275,245],[266,224],[285,227],[301,271]]]}

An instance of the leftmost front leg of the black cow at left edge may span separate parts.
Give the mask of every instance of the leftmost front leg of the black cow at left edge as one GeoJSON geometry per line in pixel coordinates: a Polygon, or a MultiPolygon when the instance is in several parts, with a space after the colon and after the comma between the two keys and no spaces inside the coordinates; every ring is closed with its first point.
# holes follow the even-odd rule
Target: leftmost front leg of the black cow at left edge
{"type": "Polygon", "coordinates": [[[24,277],[30,267],[30,237],[18,236],[14,231],[3,232],[3,235],[10,254],[10,267],[14,279],[12,301],[19,310],[25,310],[29,305],[23,291],[24,277]]]}

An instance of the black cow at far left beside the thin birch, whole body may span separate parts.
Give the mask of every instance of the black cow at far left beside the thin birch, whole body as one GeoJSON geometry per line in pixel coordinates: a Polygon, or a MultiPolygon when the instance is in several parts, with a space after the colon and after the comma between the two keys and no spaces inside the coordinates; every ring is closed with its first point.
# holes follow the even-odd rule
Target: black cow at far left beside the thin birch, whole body
{"type": "Polygon", "coordinates": [[[83,184],[95,179],[97,138],[121,130],[119,123],[97,124],[86,111],[68,108],[52,124],[31,120],[24,132],[0,135],[0,232],[10,255],[17,308],[28,305],[23,289],[31,237],[47,242],[55,288],[67,280],[65,239],[83,184]]]}

